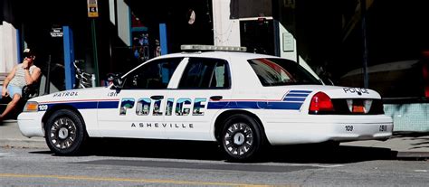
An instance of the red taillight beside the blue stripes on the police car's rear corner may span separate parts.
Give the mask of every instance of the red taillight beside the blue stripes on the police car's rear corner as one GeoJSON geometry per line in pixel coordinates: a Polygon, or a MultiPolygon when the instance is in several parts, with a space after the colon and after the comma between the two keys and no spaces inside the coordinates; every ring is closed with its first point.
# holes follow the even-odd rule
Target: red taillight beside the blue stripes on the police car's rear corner
{"type": "Polygon", "coordinates": [[[310,114],[319,114],[325,112],[333,112],[334,106],[332,105],[332,101],[326,93],[318,92],[314,94],[313,98],[311,98],[309,113],[310,114]]]}

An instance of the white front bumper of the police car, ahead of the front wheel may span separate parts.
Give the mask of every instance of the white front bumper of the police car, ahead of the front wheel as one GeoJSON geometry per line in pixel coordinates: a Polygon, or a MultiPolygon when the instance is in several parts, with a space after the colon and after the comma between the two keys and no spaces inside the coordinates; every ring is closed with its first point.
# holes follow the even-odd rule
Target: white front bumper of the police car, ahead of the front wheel
{"type": "Polygon", "coordinates": [[[44,129],[41,112],[23,112],[18,116],[21,134],[26,137],[43,137],[44,129]]]}

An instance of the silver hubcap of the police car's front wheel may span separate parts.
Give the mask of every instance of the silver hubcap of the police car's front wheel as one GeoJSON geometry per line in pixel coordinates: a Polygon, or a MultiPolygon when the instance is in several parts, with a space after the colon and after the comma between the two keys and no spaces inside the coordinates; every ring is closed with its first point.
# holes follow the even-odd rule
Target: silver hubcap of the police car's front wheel
{"type": "Polygon", "coordinates": [[[49,131],[52,145],[66,149],[73,145],[76,139],[76,125],[69,117],[57,118],[49,131]]]}

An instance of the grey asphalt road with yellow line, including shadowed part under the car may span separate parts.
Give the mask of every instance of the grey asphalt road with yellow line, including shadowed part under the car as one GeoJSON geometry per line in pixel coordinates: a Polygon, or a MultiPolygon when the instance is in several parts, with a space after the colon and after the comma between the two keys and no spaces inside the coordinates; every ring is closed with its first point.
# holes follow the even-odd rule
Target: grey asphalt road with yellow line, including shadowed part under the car
{"type": "Polygon", "coordinates": [[[380,148],[276,147],[253,163],[229,163],[211,144],[93,144],[80,156],[0,148],[0,186],[427,186],[429,181],[428,161],[397,160],[380,148]]]}

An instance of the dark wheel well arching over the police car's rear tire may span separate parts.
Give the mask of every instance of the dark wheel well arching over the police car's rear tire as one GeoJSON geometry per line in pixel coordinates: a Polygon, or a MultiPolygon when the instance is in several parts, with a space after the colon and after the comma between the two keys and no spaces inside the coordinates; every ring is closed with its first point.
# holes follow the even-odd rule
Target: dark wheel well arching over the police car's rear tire
{"type": "Polygon", "coordinates": [[[216,138],[216,140],[219,141],[219,137],[220,137],[220,134],[222,131],[222,127],[224,126],[224,123],[223,123],[224,120],[227,117],[231,117],[235,114],[243,114],[243,115],[247,115],[249,117],[253,117],[261,125],[263,138],[266,139],[265,128],[263,127],[262,121],[259,117],[257,117],[252,112],[245,111],[245,110],[228,110],[228,111],[224,111],[224,113],[222,113],[221,115],[219,115],[219,117],[216,118],[216,121],[215,121],[215,138],[216,138]]]}

